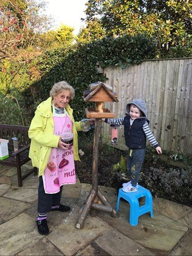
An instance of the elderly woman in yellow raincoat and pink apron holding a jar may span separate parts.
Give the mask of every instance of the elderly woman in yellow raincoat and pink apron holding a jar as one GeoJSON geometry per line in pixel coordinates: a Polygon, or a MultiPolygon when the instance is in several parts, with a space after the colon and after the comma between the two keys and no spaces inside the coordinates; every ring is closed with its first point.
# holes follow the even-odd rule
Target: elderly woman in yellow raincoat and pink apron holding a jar
{"type": "Polygon", "coordinates": [[[60,201],[63,185],[76,183],[77,131],[83,130],[82,122],[74,121],[69,106],[74,94],[66,81],[56,83],[50,98],[38,105],[28,130],[29,157],[39,170],[37,227],[42,235],[49,233],[46,213],[71,210],[60,201]]]}

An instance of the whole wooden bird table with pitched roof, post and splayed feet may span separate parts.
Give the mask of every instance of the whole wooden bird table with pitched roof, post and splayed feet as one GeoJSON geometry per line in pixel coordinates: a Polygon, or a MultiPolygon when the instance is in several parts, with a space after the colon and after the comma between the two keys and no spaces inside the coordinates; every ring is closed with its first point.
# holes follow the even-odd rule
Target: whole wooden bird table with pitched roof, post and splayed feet
{"type": "Polygon", "coordinates": [[[98,189],[98,142],[100,135],[101,119],[113,118],[114,114],[108,109],[103,108],[105,101],[118,102],[114,93],[111,93],[108,86],[102,82],[90,89],[89,94],[84,98],[84,101],[95,101],[95,108],[85,109],[87,118],[95,118],[95,133],[94,133],[94,146],[93,146],[93,163],[92,163],[92,190],[90,190],[85,204],[82,208],[81,215],[76,223],[76,228],[81,229],[84,226],[85,218],[91,209],[91,216],[95,216],[97,211],[105,211],[111,213],[111,216],[116,217],[116,211],[112,208],[107,198],[103,196],[102,192],[98,189]],[[102,204],[98,204],[98,200],[102,204]]]}

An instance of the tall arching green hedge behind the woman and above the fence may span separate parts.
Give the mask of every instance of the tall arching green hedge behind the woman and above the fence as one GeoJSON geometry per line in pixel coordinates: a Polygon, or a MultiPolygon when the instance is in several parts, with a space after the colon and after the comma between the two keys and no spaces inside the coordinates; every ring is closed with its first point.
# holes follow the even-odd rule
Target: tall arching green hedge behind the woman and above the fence
{"type": "MultiPolygon", "coordinates": [[[[116,39],[107,37],[92,43],[75,43],[71,47],[49,50],[24,66],[20,78],[17,77],[19,88],[15,88],[15,81],[12,80],[9,94],[18,99],[25,125],[29,125],[38,104],[49,97],[51,87],[58,81],[68,81],[76,91],[76,97],[70,103],[74,117],[76,120],[82,119],[85,117],[85,107],[94,106],[94,103],[84,102],[83,91],[89,88],[90,83],[107,83],[107,78],[97,73],[97,61],[102,66],[120,65],[125,68],[155,58],[155,50],[154,41],[145,35],[124,35],[116,39]],[[35,73],[31,74],[32,70],[35,73]]],[[[7,121],[7,118],[4,121],[4,117],[1,122],[7,121]]],[[[15,124],[18,119],[11,122],[15,124]]]]}

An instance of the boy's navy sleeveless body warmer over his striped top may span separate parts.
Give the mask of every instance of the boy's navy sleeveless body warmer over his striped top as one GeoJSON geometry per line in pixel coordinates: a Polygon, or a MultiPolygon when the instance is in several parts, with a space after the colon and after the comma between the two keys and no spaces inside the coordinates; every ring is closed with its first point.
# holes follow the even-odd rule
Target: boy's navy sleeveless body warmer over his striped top
{"type": "Polygon", "coordinates": [[[144,123],[149,120],[146,117],[139,117],[130,125],[130,116],[126,114],[124,117],[124,139],[125,144],[129,149],[145,149],[146,134],[142,130],[144,123]]]}

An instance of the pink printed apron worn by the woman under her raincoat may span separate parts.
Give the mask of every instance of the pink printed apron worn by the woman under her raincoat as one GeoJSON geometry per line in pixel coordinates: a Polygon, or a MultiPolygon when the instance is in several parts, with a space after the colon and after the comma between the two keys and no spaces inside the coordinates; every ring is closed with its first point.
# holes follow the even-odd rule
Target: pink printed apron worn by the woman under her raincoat
{"type": "MultiPolygon", "coordinates": [[[[72,121],[68,113],[56,114],[53,107],[54,134],[61,135],[72,132],[72,121]]],[[[53,148],[48,165],[43,174],[43,185],[46,194],[55,194],[60,186],[76,183],[76,171],[73,157],[73,147],[69,149],[53,148]]]]}

